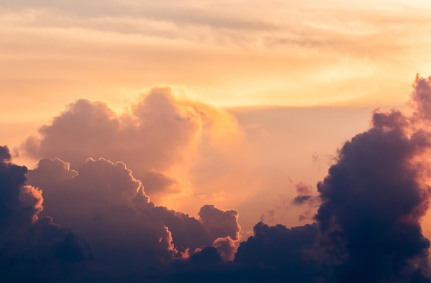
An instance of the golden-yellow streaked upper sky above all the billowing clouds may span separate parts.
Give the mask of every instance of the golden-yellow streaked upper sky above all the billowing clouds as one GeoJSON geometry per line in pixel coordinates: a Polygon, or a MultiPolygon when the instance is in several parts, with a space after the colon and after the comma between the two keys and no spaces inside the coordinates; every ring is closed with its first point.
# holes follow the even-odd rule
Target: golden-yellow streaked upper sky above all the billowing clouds
{"type": "Polygon", "coordinates": [[[155,85],[219,106],[398,105],[430,73],[425,1],[52,5],[0,6],[3,120],[83,96],[121,109],[155,85]]]}

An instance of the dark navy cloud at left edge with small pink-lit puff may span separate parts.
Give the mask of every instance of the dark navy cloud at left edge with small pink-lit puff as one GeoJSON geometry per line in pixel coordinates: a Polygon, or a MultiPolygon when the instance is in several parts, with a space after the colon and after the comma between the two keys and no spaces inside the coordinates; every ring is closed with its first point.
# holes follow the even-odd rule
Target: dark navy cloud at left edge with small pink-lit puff
{"type": "Polygon", "coordinates": [[[10,162],[0,147],[0,271],[1,280],[21,282],[76,278],[92,260],[90,245],[50,217],[41,217],[40,189],[25,185],[27,168],[10,162]],[[75,274],[74,274],[75,273],[75,274]]]}

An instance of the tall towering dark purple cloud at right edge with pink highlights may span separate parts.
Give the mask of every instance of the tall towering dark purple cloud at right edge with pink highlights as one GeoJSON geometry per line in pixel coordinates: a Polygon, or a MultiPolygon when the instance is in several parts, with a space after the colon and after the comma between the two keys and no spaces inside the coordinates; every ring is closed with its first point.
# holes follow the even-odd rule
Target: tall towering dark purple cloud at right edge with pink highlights
{"type": "Polygon", "coordinates": [[[430,241],[420,220],[431,189],[430,79],[417,78],[413,115],[377,110],[372,127],[341,147],[319,182],[316,220],[340,282],[412,281],[425,277],[430,241]]]}

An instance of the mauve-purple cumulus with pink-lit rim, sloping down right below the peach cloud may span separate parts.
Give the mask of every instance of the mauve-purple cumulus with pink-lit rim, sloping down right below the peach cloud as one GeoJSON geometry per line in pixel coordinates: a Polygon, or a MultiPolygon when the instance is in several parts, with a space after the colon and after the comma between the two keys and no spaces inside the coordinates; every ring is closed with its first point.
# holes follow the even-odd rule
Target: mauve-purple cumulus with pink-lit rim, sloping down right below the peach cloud
{"type": "Polygon", "coordinates": [[[110,272],[167,264],[185,254],[194,262],[194,254],[207,257],[205,248],[211,245],[218,258],[233,259],[233,240],[240,232],[237,211],[204,206],[197,220],[156,206],[124,163],[89,158],[71,169],[58,158],[43,159],[28,172],[28,180],[43,189],[43,213],[74,227],[94,247],[96,262],[110,272]]]}

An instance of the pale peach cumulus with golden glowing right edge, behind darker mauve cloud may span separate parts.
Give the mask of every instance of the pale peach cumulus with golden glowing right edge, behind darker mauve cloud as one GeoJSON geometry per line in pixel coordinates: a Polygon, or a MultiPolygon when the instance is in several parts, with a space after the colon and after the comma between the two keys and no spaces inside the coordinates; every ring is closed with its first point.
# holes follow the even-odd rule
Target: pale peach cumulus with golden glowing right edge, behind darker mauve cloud
{"type": "Polygon", "coordinates": [[[33,158],[60,158],[72,168],[87,158],[121,161],[162,202],[165,194],[171,198],[188,187],[183,179],[198,160],[201,142],[217,148],[237,133],[224,110],[182,101],[165,87],[152,89],[122,115],[107,103],[80,99],[21,149],[33,158]]]}

